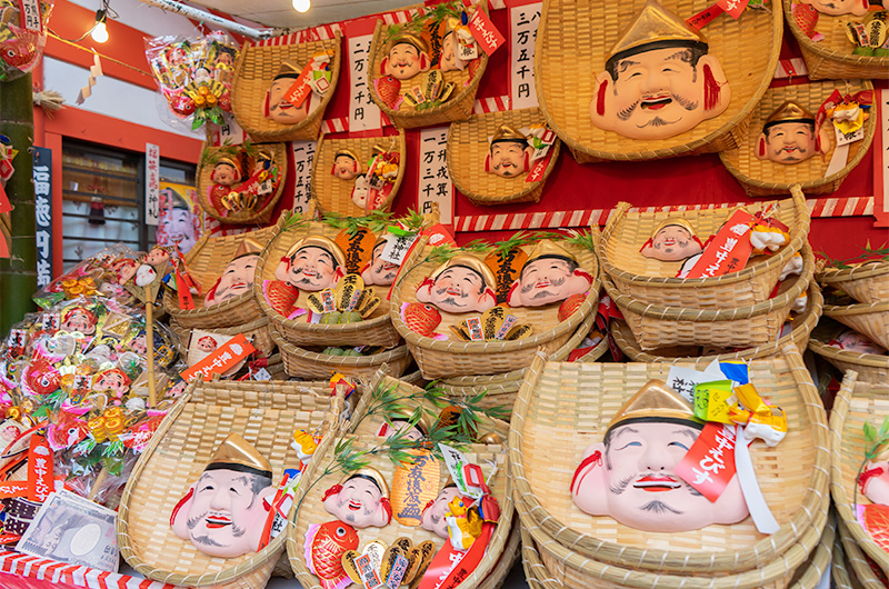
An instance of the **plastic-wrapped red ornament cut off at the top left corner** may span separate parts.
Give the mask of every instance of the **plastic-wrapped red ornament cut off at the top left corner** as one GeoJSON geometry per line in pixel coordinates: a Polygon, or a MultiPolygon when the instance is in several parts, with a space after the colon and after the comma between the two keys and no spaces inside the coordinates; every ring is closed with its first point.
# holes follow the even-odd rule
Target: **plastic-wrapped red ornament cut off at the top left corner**
{"type": "Polygon", "coordinates": [[[0,81],[18,80],[40,61],[52,4],[46,0],[0,0],[0,81]]]}

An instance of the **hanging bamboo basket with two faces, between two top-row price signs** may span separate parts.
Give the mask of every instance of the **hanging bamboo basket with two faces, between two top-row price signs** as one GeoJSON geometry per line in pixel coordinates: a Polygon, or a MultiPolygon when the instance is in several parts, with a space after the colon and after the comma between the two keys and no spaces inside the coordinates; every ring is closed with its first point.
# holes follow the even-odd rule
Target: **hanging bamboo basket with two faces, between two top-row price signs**
{"type": "MultiPolygon", "coordinates": [[[[477,2],[482,7],[485,12],[488,12],[487,2],[477,2]]],[[[408,9],[422,9],[422,4],[416,7],[408,7],[408,9]]],[[[402,9],[404,10],[404,9],[402,9]]],[[[389,119],[396,123],[400,129],[413,129],[417,127],[432,127],[436,124],[448,123],[451,121],[463,121],[472,114],[472,107],[476,104],[476,92],[479,89],[479,81],[485,76],[485,70],[488,67],[488,56],[479,50],[480,63],[475,72],[475,76],[469,74],[469,68],[458,71],[443,72],[444,81],[455,84],[453,93],[443,103],[426,110],[416,110],[413,107],[402,102],[399,110],[393,110],[377,94],[377,88],[373,80],[381,77],[381,63],[386,57],[387,49],[387,29],[389,24],[383,22],[382,19],[377,20],[377,28],[373,30],[373,40],[370,42],[370,63],[371,76],[368,87],[370,88],[370,98],[380,107],[380,110],[386,113],[389,119]]],[[[400,96],[404,96],[414,86],[420,84],[420,76],[410,80],[403,80],[399,90],[400,96]]]]}

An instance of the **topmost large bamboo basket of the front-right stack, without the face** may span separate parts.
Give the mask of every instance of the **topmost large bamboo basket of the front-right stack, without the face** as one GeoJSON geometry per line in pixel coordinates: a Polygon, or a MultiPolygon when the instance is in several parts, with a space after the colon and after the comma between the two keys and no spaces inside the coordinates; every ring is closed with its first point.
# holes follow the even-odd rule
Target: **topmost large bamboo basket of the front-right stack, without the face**
{"type": "MultiPolygon", "coordinates": [[[[649,379],[666,379],[670,366],[545,362],[536,358],[512,412],[510,463],[517,496],[553,543],[571,547],[579,557],[600,563],[716,573],[749,570],[776,560],[812,525],[813,513],[822,499],[827,500],[829,482],[825,411],[792,346],[779,356],[749,363],[751,382],[788,413],[789,432],[779,447],[750,448],[779,531],[763,536],[746,519],[689,532],[641,532],[608,517],[589,516],[575,506],[568,492],[571,476],[583,450],[599,440],[601,431],[596,430],[603,430],[616,409],[649,379]],[[559,443],[552,445],[552,440],[559,443]]],[[[827,510],[827,505],[822,507],[827,510]]],[[[821,527],[823,521],[819,537],[821,527]]]]}

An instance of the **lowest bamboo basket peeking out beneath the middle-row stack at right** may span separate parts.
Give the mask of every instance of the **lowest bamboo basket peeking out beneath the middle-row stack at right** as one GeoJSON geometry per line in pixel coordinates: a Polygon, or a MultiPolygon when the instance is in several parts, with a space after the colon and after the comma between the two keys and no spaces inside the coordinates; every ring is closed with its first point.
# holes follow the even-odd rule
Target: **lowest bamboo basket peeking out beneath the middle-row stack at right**
{"type": "Polygon", "coordinates": [[[632,330],[623,321],[612,321],[611,332],[615,336],[615,341],[618,347],[635,362],[676,362],[681,361],[692,363],[698,369],[702,370],[710,365],[713,360],[725,362],[738,358],[765,358],[773,353],[778,353],[788,343],[797,347],[800,353],[806,352],[806,346],[809,342],[809,335],[818,325],[818,319],[821,317],[821,305],[823,297],[821,290],[815,282],[809,283],[809,305],[806,310],[792,318],[793,327],[787,336],[779,338],[773,343],[767,343],[757,348],[748,348],[735,352],[725,352],[710,356],[700,356],[700,348],[689,347],[675,347],[655,350],[652,353],[643,352],[636,338],[632,336],[632,330]]]}

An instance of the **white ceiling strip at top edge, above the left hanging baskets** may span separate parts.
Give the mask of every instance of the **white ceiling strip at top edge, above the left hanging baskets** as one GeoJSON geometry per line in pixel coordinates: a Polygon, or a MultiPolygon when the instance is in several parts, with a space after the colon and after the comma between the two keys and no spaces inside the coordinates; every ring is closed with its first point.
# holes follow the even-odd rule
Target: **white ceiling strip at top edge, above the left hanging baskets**
{"type": "Polygon", "coordinates": [[[292,0],[191,0],[189,3],[226,12],[266,27],[304,29],[366,17],[418,3],[418,0],[311,0],[308,12],[293,10],[292,0]]]}

